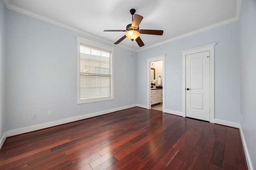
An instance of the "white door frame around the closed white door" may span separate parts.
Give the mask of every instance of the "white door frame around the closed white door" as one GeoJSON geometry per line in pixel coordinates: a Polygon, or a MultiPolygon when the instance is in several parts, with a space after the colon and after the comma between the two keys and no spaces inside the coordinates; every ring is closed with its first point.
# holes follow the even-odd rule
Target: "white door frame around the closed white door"
{"type": "Polygon", "coordinates": [[[214,123],[214,45],[204,45],[182,52],[182,116],[186,117],[186,55],[210,51],[210,122],[214,123]]]}

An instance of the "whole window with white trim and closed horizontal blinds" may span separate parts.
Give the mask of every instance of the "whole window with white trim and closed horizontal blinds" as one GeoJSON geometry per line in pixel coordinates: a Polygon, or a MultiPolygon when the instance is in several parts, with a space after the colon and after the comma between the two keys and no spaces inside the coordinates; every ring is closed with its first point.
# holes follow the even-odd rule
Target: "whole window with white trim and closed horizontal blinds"
{"type": "Polygon", "coordinates": [[[113,100],[114,48],[77,36],[77,103],[113,100]]]}

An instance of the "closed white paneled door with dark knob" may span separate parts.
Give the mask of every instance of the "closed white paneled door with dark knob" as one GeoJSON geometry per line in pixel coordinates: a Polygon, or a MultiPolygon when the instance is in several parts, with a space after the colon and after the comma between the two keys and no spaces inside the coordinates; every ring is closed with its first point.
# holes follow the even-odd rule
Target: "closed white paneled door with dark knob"
{"type": "Polygon", "coordinates": [[[210,51],[186,55],[186,117],[210,121],[210,51]]]}

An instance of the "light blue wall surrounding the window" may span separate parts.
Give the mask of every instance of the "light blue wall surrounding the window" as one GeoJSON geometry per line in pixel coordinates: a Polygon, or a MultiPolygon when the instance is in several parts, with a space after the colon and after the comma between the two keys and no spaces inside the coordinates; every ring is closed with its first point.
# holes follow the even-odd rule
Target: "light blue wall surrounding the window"
{"type": "Polygon", "coordinates": [[[6,17],[7,131],[136,104],[135,57],[130,51],[107,44],[115,47],[115,100],[78,105],[75,36],[79,34],[12,10],[6,10],[6,17]]]}

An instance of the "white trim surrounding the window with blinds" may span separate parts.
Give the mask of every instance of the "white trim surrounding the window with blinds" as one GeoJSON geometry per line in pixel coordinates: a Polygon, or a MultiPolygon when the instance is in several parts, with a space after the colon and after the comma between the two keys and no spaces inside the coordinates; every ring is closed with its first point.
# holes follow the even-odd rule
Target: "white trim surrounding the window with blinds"
{"type": "Polygon", "coordinates": [[[97,43],[95,41],[85,39],[79,36],[76,36],[77,39],[77,104],[85,104],[92,102],[101,102],[107,100],[114,100],[114,47],[97,43]],[[111,96],[110,98],[100,98],[100,99],[90,99],[90,100],[80,100],[80,44],[90,45],[99,49],[107,50],[112,52],[112,80],[111,80],[111,96]]]}

